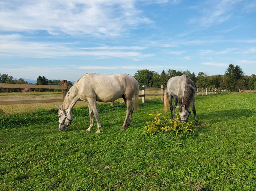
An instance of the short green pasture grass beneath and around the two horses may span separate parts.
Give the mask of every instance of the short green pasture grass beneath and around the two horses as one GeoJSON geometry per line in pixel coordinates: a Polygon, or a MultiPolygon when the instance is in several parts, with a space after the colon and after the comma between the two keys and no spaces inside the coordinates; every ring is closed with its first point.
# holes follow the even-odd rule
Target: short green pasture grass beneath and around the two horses
{"type": "MultiPolygon", "coordinates": [[[[254,190],[256,94],[196,96],[195,133],[145,132],[163,112],[158,99],[140,103],[119,131],[123,103],[99,104],[91,132],[87,107],[73,110],[59,132],[57,109],[0,113],[0,190],[254,190]]],[[[167,113],[170,115],[170,112],[167,113]]]]}

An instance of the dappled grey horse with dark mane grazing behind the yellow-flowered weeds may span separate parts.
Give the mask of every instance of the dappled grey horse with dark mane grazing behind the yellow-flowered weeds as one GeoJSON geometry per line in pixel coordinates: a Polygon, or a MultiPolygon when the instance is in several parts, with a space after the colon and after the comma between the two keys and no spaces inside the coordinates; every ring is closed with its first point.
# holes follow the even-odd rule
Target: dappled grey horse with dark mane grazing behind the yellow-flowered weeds
{"type": "Polygon", "coordinates": [[[195,85],[189,76],[183,74],[181,76],[174,76],[170,78],[167,82],[164,93],[164,113],[167,112],[168,105],[170,104],[171,119],[174,119],[175,108],[177,107],[179,108],[179,121],[187,121],[191,114],[191,111],[189,110],[189,106],[191,104],[195,123],[199,126],[196,116],[194,94],[195,85]],[[173,97],[175,98],[174,109],[172,106],[173,97]],[[177,106],[177,103],[179,103],[179,106],[177,106]]]}

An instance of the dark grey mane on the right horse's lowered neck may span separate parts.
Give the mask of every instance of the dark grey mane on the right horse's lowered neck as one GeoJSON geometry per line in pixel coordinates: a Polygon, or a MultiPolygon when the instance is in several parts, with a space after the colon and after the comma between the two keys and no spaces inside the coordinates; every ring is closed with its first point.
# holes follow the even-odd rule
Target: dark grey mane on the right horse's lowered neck
{"type": "Polygon", "coordinates": [[[185,85],[185,92],[183,95],[183,104],[185,106],[190,106],[190,102],[195,94],[195,85],[191,78],[186,75],[186,85],[185,85]]]}

